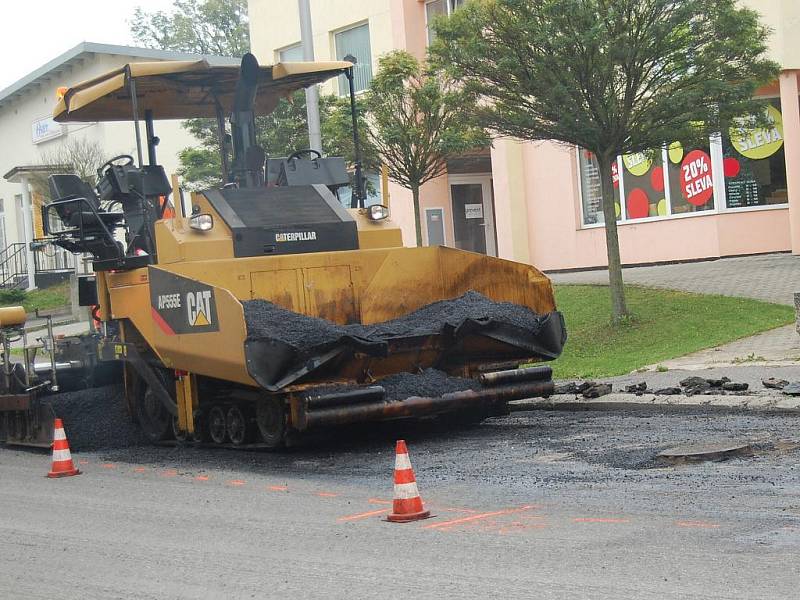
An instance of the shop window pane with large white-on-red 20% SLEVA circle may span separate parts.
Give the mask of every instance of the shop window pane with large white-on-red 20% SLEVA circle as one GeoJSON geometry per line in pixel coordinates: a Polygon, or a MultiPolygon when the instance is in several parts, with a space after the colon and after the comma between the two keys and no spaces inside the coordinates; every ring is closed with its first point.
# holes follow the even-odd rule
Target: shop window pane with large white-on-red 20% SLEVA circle
{"type": "Polygon", "coordinates": [[[672,214],[714,210],[714,172],[709,146],[685,149],[675,142],[667,148],[672,214]]]}

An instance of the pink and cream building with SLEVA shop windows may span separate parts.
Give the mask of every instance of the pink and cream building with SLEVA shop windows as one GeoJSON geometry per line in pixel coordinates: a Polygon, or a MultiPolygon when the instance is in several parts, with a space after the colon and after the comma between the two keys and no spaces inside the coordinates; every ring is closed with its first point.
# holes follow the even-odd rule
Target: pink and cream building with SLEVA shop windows
{"type": "MultiPolygon", "coordinates": [[[[424,56],[430,17],[464,0],[311,0],[315,57],[357,57],[366,88],[392,49],[424,56]]],[[[779,81],[760,90],[773,126],[738,139],[728,132],[698,148],[673,144],[655,156],[619,157],[616,198],[625,264],[778,251],[800,253],[800,3],[746,0],[773,29],[779,81]]],[[[253,50],[262,62],[298,59],[294,2],[250,0],[253,50]],[[278,6],[280,5],[280,6],[278,6]]],[[[323,92],[337,93],[337,84],[323,92]]],[[[375,175],[377,177],[377,175],[375,175]]],[[[606,264],[599,175],[582,149],[495,140],[451,161],[421,194],[423,238],[544,270],[606,264]]],[[[414,243],[410,193],[389,189],[393,217],[414,243]]],[[[385,201],[385,199],[384,199],[385,201]]]]}

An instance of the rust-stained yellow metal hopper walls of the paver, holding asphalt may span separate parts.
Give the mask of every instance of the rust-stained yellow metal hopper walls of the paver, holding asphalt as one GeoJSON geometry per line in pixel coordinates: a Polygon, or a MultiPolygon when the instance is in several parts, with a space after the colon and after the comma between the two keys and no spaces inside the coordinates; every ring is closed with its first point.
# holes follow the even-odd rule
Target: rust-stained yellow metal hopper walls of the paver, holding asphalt
{"type": "Polygon", "coordinates": [[[107,273],[112,317],[129,319],[166,367],[248,385],[256,384],[245,363],[245,300],[268,300],[339,324],[387,321],[469,290],[537,313],[555,310],[550,281],[537,269],[445,247],[221,258],[152,269],[211,286],[217,330],[165,331],[151,306],[146,268],[107,273]]]}

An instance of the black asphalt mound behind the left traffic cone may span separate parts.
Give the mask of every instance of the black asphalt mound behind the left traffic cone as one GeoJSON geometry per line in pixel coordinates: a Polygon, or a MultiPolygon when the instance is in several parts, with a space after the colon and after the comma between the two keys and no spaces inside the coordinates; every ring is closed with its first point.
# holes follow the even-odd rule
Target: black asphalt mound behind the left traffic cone
{"type": "Polygon", "coordinates": [[[147,444],[127,413],[122,386],[54,394],[44,401],[64,422],[70,450],[85,452],[147,444]]]}

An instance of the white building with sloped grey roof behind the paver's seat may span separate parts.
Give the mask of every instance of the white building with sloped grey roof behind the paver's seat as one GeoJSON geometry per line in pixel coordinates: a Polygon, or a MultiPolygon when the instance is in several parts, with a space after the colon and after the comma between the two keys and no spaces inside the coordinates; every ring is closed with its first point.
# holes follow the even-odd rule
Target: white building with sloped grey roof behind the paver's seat
{"type": "MultiPolygon", "coordinates": [[[[53,121],[51,115],[58,88],[86,81],[130,62],[201,58],[212,64],[238,64],[236,59],[217,56],[83,42],[0,90],[0,287],[8,285],[15,275],[12,271],[19,271],[20,262],[27,268],[24,255],[30,254],[22,244],[42,233],[38,208],[41,198],[34,193],[29,181],[37,167],[41,170],[46,162],[51,162],[50,157],[57,153],[60,145],[74,144],[77,140],[97,144],[107,158],[118,154],[136,155],[133,125],[129,122],[59,124],[53,121]],[[23,206],[31,212],[26,215],[23,206]],[[16,254],[14,259],[10,258],[11,254],[16,254]]],[[[180,121],[159,121],[156,135],[161,140],[158,160],[168,175],[178,168],[178,153],[198,144],[181,127],[180,121]]],[[[43,262],[48,263],[47,268],[70,265],[69,257],[54,258],[52,252],[49,254],[51,256],[45,258],[42,253],[36,253],[37,266],[43,262]]]]}

